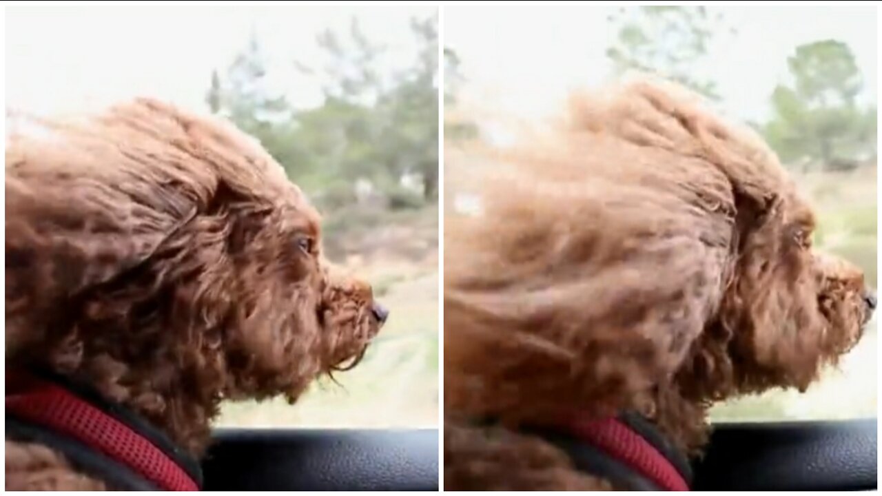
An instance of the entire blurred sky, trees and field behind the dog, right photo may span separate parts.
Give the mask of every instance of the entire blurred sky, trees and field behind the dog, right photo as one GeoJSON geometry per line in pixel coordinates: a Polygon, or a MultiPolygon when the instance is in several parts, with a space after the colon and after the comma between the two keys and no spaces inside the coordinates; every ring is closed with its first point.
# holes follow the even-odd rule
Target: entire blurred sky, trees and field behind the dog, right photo
{"type": "MultiPolygon", "coordinates": [[[[445,209],[475,146],[505,146],[577,87],[649,71],[756,129],[816,207],[815,244],[877,285],[874,7],[445,7],[445,209]],[[488,25],[493,19],[493,25],[488,25]]],[[[451,210],[455,211],[455,210],[451,210]]],[[[445,212],[448,214],[448,212],[445,212]]],[[[877,325],[804,395],[775,390],[715,408],[721,420],[876,417],[877,325]]]]}

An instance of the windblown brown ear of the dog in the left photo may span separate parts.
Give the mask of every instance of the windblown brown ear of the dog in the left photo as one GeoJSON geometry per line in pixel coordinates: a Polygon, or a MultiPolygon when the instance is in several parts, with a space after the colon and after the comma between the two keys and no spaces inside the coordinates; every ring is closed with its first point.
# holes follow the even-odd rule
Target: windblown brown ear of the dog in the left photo
{"type": "Polygon", "coordinates": [[[216,188],[180,125],[144,105],[101,122],[32,124],[5,154],[7,357],[71,319],[85,291],[143,264],[216,188]]]}

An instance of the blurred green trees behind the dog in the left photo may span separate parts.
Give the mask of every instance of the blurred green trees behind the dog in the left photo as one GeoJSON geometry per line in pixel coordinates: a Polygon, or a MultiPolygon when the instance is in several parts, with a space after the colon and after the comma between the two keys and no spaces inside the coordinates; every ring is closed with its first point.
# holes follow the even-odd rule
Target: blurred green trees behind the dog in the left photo
{"type": "Polygon", "coordinates": [[[359,182],[385,196],[380,205],[387,206],[401,196],[405,177],[419,178],[421,188],[411,196],[422,206],[437,199],[438,189],[437,16],[412,19],[411,28],[417,54],[397,73],[380,70],[384,48],[355,19],[342,34],[318,34],[324,63],[295,62],[298,76],[317,81],[325,95],[309,109],[273,93],[269,80],[284,76],[252,34],[225,71],[213,72],[206,102],[259,139],[321,207],[372,201],[356,194],[359,182]]]}

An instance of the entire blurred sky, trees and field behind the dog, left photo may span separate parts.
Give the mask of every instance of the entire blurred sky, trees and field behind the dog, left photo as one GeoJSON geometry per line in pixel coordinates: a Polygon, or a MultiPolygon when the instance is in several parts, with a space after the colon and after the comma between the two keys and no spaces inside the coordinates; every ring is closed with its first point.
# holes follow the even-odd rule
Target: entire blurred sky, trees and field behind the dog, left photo
{"type": "MultiPolygon", "coordinates": [[[[147,95],[260,139],[324,215],[329,259],[392,310],[362,364],[221,425],[437,425],[438,33],[427,7],[10,8],[7,124],[147,95]]],[[[11,127],[11,126],[10,126],[11,127]]]]}

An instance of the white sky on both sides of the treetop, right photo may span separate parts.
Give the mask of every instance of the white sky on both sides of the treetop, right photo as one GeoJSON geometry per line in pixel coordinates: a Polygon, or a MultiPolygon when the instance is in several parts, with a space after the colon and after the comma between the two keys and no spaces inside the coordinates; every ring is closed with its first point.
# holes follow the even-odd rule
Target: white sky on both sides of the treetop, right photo
{"type": "MultiPolygon", "coordinates": [[[[617,7],[445,7],[445,46],[460,56],[470,90],[516,116],[553,113],[569,90],[601,84],[615,37],[607,16],[617,7]]],[[[710,10],[710,9],[709,9],[710,10]]],[[[866,95],[876,101],[875,7],[775,6],[721,9],[738,34],[712,49],[707,71],[724,107],[741,118],[764,115],[788,74],[787,56],[807,41],[834,38],[854,51],[866,95]]]]}

